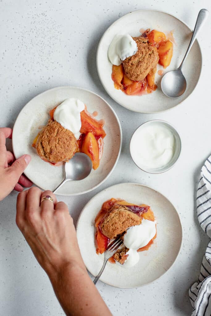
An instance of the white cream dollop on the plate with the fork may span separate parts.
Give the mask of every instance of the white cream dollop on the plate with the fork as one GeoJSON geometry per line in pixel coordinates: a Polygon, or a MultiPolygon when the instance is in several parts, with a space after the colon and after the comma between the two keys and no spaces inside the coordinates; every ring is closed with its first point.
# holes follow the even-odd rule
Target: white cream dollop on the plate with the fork
{"type": "Polygon", "coordinates": [[[144,218],[140,225],[128,228],[123,240],[123,244],[129,248],[128,252],[126,252],[128,257],[121,266],[130,268],[137,264],[140,258],[137,250],[146,246],[155,234],[156,221],[152,222],[144,218]]]}

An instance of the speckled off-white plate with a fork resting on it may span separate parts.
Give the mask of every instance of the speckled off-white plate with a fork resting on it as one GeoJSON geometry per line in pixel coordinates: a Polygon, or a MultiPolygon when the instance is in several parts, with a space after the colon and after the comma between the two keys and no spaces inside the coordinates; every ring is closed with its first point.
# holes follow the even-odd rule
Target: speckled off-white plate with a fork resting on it
{"type": "Polygon", "coordinates": [[[94,220],[102,203],[122,198],[134,204],[148,204],[157,220],[157,238],[148,251],[139,252],[140,260],[132,268],[107,263],[100,280],[118,288],[146,285],[162,276],[175,262],[182,244],[182,226],[171,202],[161,193],[139,183],[121,183],[96,194],[82,210],[77,223],[77,238],[86,268],[96,276],[104,255],[97,255],[94,220]]]}

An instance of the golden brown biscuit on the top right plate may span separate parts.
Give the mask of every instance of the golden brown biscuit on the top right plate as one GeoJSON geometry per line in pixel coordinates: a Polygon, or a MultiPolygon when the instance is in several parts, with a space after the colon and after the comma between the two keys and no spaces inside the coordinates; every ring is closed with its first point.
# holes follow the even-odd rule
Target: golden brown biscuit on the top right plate
{"type": "Polygon", "coordinates": [[[133,37],[138,50],[131,56],[123,60],[122,64],[126,76],[134,81],[143,80],[150,70],[158,64],[159,56],[156,47],[150,46],[147,37],[133,37]]]}

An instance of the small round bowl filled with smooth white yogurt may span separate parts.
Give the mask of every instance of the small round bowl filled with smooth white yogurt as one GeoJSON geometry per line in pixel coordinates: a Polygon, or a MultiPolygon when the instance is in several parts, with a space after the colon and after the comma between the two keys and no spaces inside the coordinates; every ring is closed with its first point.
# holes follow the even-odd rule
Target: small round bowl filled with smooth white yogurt
{"type": "Polygon", "coordinates": [[[175,127],[162,120],[140,125],[130,140],[134,163],[148,173],[165,172],[176,163],[181,152],[181,139],[175,127]]]}

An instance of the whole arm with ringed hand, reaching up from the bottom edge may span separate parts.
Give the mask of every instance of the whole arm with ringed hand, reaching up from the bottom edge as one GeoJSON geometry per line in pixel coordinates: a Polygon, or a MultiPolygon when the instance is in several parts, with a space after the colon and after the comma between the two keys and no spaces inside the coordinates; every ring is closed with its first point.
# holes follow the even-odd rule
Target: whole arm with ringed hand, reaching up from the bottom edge
{"type": "Polygon", "coordinates": [[[32,187],[18,194],[16,223],[47,272],[66,315],[111,316],[87,273],[65,203],[57,203],[51,191],[32,187]],[[53,203],[40,203],[47,195],[53,203]]]}

